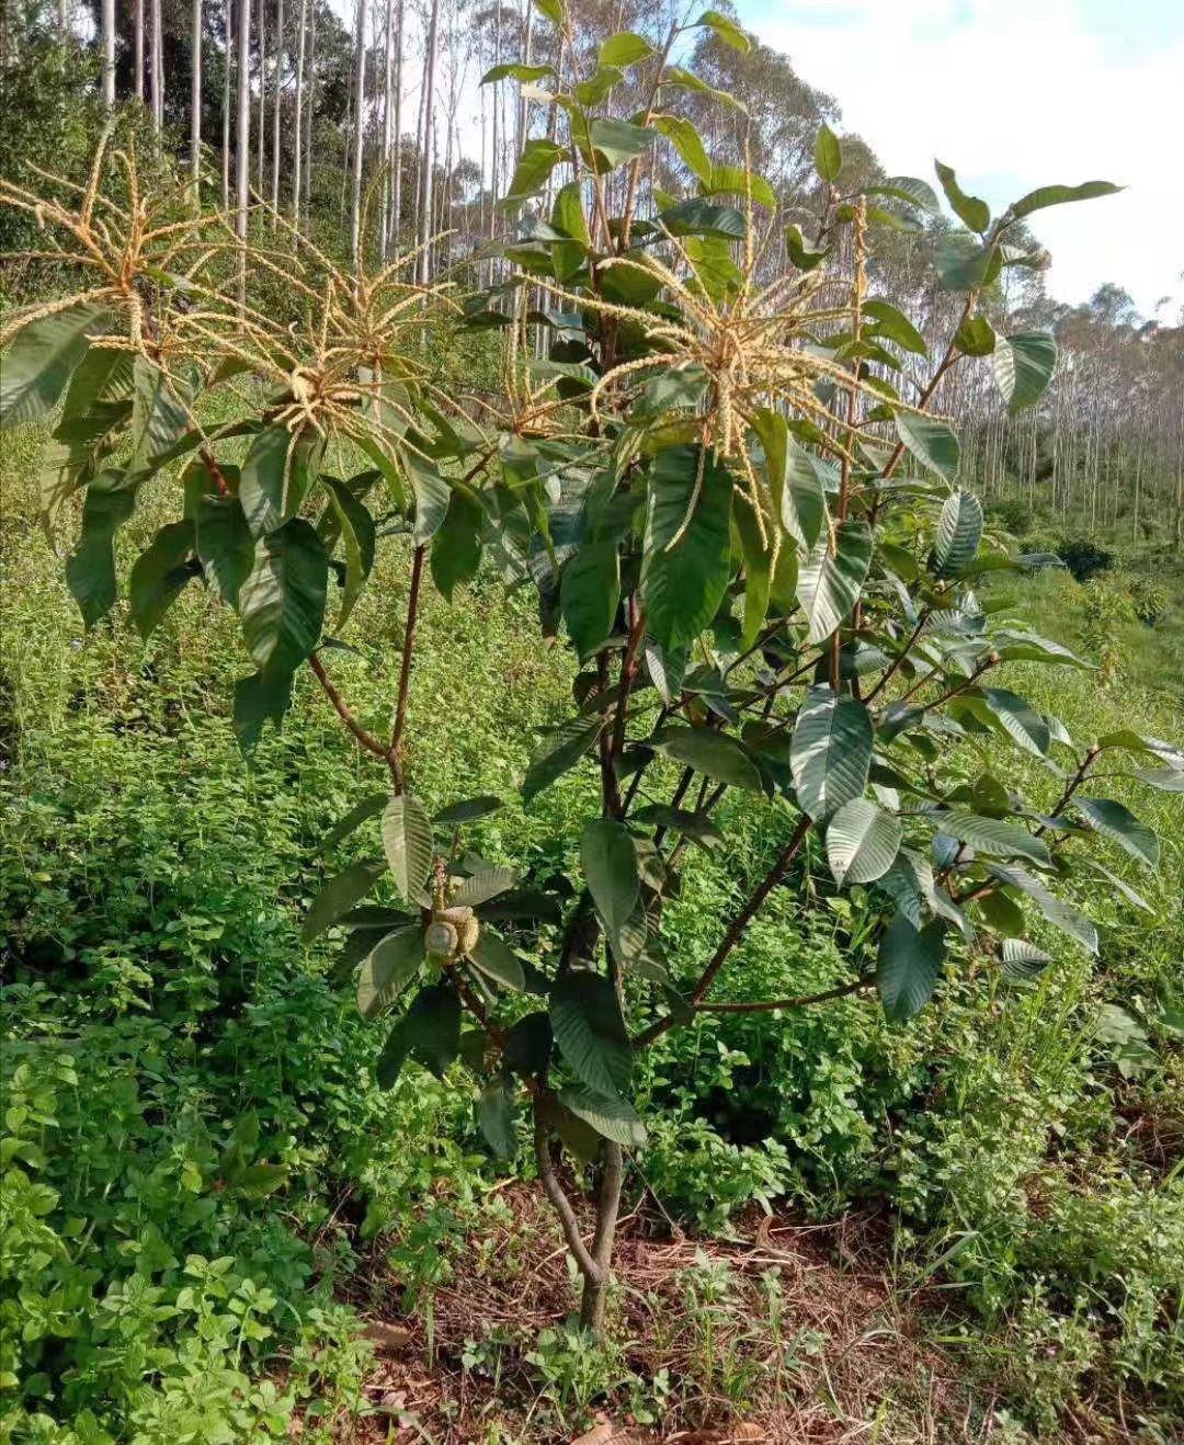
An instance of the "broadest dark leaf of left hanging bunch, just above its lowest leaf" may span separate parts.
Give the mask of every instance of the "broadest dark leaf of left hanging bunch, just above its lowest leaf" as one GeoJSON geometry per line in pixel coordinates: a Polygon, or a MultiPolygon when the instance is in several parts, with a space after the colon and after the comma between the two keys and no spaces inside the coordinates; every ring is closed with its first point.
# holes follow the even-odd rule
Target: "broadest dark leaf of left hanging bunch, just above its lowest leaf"
{"type": "Polygon", "coordinates": [[[328,591],[328,556],[301,517],[267,532],[254,566],[239,590],[243,637],[265,676],[282,676],[309,656],[321,636],[328,591]]]}

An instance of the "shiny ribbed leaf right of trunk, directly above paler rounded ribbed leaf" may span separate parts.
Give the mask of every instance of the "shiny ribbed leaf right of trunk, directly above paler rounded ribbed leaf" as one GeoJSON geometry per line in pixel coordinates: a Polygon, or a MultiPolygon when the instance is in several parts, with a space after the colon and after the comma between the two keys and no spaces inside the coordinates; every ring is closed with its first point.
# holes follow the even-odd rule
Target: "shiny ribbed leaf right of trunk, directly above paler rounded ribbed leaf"
{"type": "MultiPolygon", "coordinates": [[[[856,698],[814,686],[794,724],[789,767],[798,806],[815,822],[862,796],[872,766],[875,731],[856,698]]],[[[889,860],[891,861],[891,860],[889,860]]]]}

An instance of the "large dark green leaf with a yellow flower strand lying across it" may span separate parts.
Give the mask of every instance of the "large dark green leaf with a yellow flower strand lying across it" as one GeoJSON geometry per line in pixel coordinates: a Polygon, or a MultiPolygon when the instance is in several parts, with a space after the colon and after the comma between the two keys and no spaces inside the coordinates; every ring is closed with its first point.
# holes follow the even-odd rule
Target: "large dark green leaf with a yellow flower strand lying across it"
{"type": "Polygon", "coordinates": [[[691,643],[711,621],[732,569],[732,477],[698,447],[653,460],[646,507],[642,598],[664,647],[691,643]]]}

